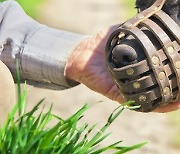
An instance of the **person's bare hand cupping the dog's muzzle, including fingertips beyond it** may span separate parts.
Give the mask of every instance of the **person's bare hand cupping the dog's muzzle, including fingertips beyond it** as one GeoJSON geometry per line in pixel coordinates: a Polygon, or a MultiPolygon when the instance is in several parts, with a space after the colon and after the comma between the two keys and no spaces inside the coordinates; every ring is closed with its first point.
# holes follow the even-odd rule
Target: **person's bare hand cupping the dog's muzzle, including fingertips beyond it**
{"type": "MultiPolygon", "coordinates": [[[[125,98],[112,81],[105,65],[105,46],[116,26],[99,32],[81,42],[70,55],[66,68],[66,77],[83,83],[88,88],[103,94],[119,103],[125,98]]],[[[180,102],[159,107],[155,112],[170,112],[180,109],[180,102]]]]}

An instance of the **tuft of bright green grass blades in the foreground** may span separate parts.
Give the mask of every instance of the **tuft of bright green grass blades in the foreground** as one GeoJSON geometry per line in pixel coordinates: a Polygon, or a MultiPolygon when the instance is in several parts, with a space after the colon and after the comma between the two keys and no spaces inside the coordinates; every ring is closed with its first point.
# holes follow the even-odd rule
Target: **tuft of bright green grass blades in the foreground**
{"type": "Polygon", "coordinates": [[[109,150],[111,152],[113,150],[115,154],[123,154],[146,144],[122,146],[120,140],[99,148],[101,142],[110,135],[104,134],[106,129],[124,109],[132,109],[127,104],[116,108],[100,131],[96,131],[96,124],[93,126],[87,123],[81,126],[78,124],[83,118],[83,113],[89,108],[87,104],[67,119],[54,115],[52,106],[48,112],[41,110],[37,113],[43,104],[43,99],[31,111],[26,112],[27,90],[21,93],[19,71],[17,71],[17,80],[18,102],[4,125],[0,127],[1,154],[99,154],[109,150]],[[49,127],[48,123],[52,120],[57,122],[49,127]],[[92,132],[95,132],[95,135],[90,137],[92,132]]]}

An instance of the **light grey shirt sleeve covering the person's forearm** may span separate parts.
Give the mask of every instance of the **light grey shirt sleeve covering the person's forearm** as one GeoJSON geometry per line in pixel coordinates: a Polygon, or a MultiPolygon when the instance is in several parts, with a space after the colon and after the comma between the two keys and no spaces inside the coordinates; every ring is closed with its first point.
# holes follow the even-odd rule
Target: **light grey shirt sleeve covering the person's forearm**
{"type": "Polygon", "coordinates": [[[64,67],[73,48],[84,35],[56,30],[29,18],[16,2],[0,3],[0,59],[16,77],[16,58],[20,62],[21,79],[34,86],[66,89],[77,83],[66,79],[64,67]],[[16,18],[16,20],[14,20],[16,18]]]}

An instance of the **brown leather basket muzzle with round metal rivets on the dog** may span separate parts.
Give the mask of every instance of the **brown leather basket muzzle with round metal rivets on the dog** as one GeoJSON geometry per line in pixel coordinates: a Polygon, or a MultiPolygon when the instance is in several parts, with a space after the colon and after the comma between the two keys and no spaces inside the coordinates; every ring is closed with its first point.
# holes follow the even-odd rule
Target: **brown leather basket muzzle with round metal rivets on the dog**
{"type": "Polygon", "coordinates": [[[162,10],[164,3],[165,0],[157,0],[150,8],[120,25],[106,46],[106,65],[112,79],[127,100],[141,105],[138,109],[141,112],[180,101],[180,27],[162,10]],[[112,51],[129,36],[138,41],[146,58],[119,68],[113,63],[112,51]]]}

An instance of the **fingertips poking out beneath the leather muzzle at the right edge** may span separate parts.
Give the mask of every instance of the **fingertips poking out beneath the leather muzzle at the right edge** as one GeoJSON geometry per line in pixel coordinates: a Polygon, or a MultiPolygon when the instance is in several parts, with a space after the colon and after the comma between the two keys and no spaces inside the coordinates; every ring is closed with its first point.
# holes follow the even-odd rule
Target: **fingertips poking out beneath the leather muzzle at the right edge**
{"type": "Polygon", "coordinates": [[[180,102],[173,102],[170,103],[166,106],[159,107],[154,110],[154,112],[158,113],[166,113],[166,112],[171,112],[180,109],[180,102]]]}

